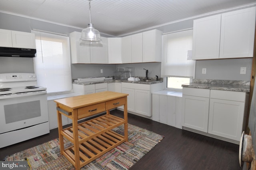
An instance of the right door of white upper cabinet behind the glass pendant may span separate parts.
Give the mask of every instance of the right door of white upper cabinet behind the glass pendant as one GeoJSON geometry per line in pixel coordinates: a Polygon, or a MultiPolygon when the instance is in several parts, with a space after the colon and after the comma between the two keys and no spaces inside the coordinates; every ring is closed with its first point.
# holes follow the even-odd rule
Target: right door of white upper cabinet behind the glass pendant
{"type": "Polygon", "coordinates": [[[108,38],[101,37],[102,47],[90,46],[91,63],[108,64],[108,38]]]}

